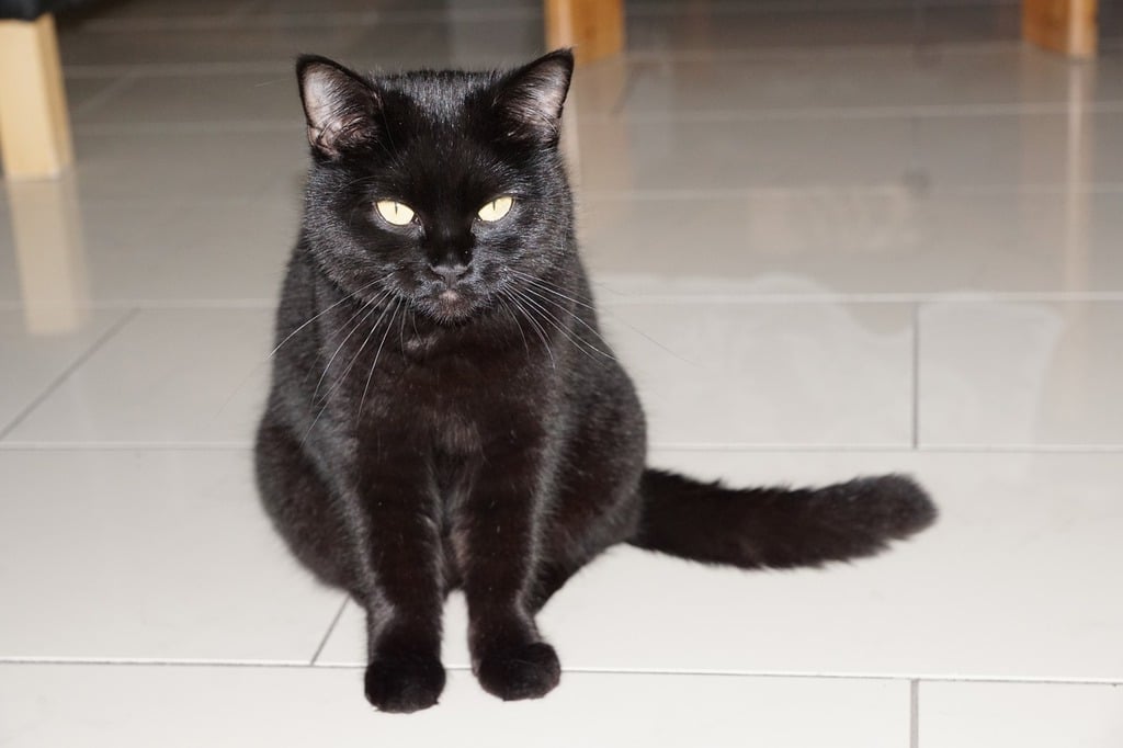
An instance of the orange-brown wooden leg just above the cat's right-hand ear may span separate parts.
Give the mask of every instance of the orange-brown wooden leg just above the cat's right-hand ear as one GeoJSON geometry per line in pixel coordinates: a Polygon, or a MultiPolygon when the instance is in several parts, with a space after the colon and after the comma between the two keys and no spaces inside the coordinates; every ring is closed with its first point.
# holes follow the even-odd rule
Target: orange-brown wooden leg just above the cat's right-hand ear
{"type": "Polygon", "coordinates": [[[573,47],[577,63],[623,52],[623,0],[545,1],[546,45],[550,49],[573,47]]]}

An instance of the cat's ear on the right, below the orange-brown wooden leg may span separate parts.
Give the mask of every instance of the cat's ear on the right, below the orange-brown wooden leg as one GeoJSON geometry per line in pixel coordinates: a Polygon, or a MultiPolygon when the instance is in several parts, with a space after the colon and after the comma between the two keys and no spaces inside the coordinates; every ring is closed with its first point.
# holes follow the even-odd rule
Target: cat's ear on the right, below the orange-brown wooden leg
{"type": "Polygon", "coordinates": [[[503,77],[495,108],[504,135],[515,140],[556,145],[562,133],[562,106],[573,77],[573,52],[557,49],[503,77]]]}

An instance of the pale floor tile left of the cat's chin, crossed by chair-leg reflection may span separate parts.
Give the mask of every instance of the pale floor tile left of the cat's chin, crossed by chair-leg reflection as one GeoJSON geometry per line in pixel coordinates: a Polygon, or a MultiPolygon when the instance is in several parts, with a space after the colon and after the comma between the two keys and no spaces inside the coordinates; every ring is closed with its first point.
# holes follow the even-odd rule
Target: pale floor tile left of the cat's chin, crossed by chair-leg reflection
{"type": "Polygon", "coordinates": [[[82,200],[19,218],[57,226],[17,247],[0,213],[0,301],[65,303],[74,285],[86,303],[148,304],[227,301],[273,304],[300,226],[291,200],[82,200]],[[44,257],[61,261],[71,283],[21,282],[20,267],[44,257]]]}

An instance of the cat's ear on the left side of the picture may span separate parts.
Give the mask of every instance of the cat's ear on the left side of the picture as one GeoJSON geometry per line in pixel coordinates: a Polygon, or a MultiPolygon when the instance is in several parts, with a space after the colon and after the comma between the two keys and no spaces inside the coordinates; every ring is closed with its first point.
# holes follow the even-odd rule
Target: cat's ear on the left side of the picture
{"type": "Polygon", "coordinates": [[[308,121],[308,142],[328,156],[374,140],[378,93],[363,77],[327,57],[296,61],[300,99],[308,121]]]}

